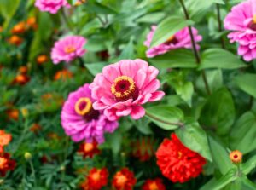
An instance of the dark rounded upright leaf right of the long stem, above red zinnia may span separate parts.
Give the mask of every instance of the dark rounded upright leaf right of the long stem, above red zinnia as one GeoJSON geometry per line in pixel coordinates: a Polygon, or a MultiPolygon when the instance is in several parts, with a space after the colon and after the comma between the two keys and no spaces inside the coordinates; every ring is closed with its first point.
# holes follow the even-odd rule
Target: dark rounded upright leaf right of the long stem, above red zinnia
{"type": "Polygon", "coordinates": [[[218,135],[226,135],[235,120],[235,105],[228,89],[218,89],[209,96],[201,112],[201,124],[216,130],[218,135]]]}

